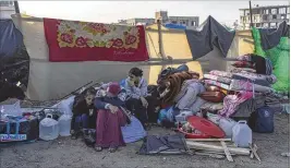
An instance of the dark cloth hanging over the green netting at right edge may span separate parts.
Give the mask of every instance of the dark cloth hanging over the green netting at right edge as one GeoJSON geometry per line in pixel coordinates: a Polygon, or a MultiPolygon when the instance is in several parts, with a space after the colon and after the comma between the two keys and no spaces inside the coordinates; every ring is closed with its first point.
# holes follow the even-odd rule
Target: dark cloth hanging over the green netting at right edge
{"type": "Polygon", "coordinates": [[[279,45],[281,37],[290,37],[290,26],[287,22],[279,24],[278,28],[259,28],[260,44],[264,50],[271,49],[279,45]]]}

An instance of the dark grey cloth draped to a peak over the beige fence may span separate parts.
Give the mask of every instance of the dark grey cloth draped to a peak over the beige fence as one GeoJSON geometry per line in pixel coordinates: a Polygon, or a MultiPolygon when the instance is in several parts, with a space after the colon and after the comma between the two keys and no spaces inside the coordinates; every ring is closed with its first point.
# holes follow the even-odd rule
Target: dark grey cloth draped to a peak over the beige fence
{"type": "Polygon", "coordinates": [[[211,16],[208,16],[198,29],[199,31],[185,31],[193,60],[211,51],[214,46],[227,57],[235,32],[229,32],[211,16]]]}

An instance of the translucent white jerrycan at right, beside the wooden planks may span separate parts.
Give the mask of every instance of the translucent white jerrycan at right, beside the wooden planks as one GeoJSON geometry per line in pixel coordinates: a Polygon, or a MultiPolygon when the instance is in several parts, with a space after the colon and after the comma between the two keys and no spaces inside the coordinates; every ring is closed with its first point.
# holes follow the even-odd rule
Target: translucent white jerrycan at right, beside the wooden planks
{"type": "Polygon", "coordinates": [[[232,128],[232,141],[238,147],[248,147],[252,143],[252,130],[245,120],[239,121],[232,128]]]}

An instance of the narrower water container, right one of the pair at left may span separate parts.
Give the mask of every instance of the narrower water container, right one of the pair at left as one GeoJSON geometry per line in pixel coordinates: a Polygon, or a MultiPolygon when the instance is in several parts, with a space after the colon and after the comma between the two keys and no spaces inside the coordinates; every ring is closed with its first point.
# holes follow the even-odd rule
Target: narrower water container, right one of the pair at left
{"type": "Polygon", "coordinates": [[[71,121],[72,121],[72,116],[70,115],[62,115],[59,118],[59,129],[60,129],[60,135],[61,136],[70,136],[71,133],[71,121]]]}

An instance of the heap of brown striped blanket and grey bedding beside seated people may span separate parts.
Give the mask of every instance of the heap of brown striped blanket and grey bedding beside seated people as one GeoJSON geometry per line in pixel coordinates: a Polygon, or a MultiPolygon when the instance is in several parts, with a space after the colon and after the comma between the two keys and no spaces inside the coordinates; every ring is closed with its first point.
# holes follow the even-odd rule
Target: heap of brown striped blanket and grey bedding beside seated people
{"type": "MultiPolygon", "coordinates": [[[[180,71],[159,77],[158,92],[161,110],[158,123],[174,127],[178,122],[186,122],[187,117],[199,111],[205,103],[198,95],[205,92],[196,72],[180,71]]],[[[159,75],[160,76],[160,75],[159,75]]]]}

